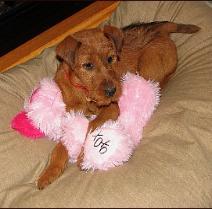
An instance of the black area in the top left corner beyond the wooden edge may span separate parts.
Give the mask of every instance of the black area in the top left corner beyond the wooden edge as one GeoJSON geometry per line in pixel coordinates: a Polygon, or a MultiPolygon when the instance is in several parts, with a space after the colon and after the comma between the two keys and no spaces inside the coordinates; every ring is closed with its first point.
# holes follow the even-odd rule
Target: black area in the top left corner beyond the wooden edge
{"type": "Polygon", "coordinates": [[[93,2],[0,0],[0,56],[93,2]]]}

